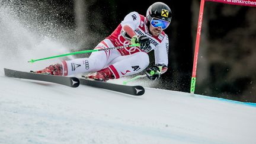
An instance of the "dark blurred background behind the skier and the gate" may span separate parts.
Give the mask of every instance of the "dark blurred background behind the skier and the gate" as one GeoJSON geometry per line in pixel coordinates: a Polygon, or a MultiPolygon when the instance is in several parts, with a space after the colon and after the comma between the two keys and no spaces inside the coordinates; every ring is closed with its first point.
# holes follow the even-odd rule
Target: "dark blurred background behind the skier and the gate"
{"type": "MultiPolygon", "coordinates": [[[[0,39],[5,38],[0,42],[9,46],[16,36],[5,23],[9,14],[25,25],[25,30],[37,33],[37,37],[59,41],[72,52],[94,49],[129,12],[146,15],[154,2],[0,0],[0,39]],[[12,39],[6,39],[10,36],[12,39]]],[[[169,69],[152,87],[190,92],[200,1],[161,2],[169,5],[173,15],[171,25],[165,30],[169,36],[169,69]]],[[[19,36],[23,37],[23,44],[32,39],[25,34],[19,36]]],[[[18,47],[21,43],[12,45],[18,47]]],[[[255,7],[206,2],[195,93],[256,103],[255,46],[255,7]]],[[[149,55],[152,65],[153,52],[149,55]]]]}

